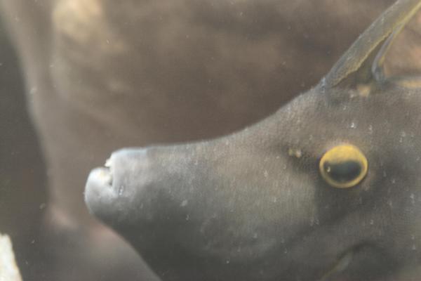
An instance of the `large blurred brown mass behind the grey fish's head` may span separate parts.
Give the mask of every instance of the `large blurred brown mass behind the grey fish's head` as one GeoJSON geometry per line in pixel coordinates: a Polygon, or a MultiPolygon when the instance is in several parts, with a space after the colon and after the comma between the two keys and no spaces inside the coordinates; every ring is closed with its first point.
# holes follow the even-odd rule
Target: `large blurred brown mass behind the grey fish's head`
{"type": "Polygon", "coordinates": [[[1,0],[48,172],[34,239],[42,270],[24,279],[152,280],[88,214],[88,171],[117,148],[221,136],[267,116],[392,1],[1,0]]]}

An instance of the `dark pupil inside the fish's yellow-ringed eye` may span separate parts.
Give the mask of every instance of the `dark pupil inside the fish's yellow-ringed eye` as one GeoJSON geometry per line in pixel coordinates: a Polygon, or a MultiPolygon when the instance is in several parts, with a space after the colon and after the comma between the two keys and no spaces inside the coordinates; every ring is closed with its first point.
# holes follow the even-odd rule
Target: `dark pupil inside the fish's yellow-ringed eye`
{"type": "Polygon", "coordinates": [[[344,161],[340,163],[325,162],[323,169],[325,169],[333,181],[338,183],[352,181],[361,174],[361,165],[355,161],[344,161]]]}

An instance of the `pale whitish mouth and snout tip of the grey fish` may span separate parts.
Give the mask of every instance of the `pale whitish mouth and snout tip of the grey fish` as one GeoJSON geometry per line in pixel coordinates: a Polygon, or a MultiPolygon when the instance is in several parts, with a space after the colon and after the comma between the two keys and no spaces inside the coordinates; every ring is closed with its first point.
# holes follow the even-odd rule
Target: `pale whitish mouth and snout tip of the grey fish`
{"type": "Polygon", "coordinates": [[[142,214],[135,209],[155,201],[155,174],[147,149],[117,150],[105,166],[89,174],[84,192],[86,206],[91,214],[112,226],[131,221],[133,214],[142,214]]]}

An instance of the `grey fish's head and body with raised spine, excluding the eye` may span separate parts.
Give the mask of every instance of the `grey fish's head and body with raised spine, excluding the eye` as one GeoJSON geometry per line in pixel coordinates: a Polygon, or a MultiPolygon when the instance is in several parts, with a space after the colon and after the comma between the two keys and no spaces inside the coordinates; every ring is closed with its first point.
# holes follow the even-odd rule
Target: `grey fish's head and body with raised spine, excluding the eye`
{"type": "Polygon", "coordinates": [[[254,126],[114,152],[88,178],[88,208],[162,280],[417,280],[421,89],[385,76],[383,58],[420,6],[398,1],[319,85],[254,126]],[[319,174],[342,143],[368,159],[349,189],[319,174]]]}

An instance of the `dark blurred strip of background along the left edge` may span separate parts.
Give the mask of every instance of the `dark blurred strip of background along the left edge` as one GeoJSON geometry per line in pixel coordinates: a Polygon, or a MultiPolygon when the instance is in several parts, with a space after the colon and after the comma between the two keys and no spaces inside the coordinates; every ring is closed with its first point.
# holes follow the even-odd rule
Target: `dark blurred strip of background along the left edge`
{"type": "Polygon", "coordinates": [[[1,20],[0,132],[0,233],[11,236],[17,259],[31,266],[46,207],[46,167],[18,58],[1,20]]]}

